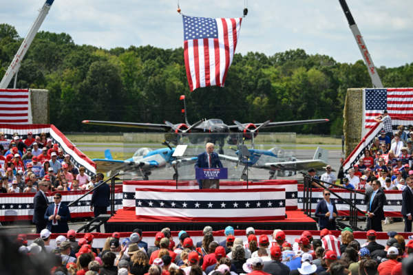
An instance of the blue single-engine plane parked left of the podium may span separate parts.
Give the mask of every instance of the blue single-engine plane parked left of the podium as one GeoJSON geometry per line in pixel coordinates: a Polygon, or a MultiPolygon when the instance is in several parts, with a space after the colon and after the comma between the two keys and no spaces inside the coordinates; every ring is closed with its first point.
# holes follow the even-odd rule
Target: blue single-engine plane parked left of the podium
{"type": "Polygon", "coordinates": [[[118,173],[119,170],[123,170],[123,173],[138,172],[143,180],[149,180],[153,169],[172,166],[175,170],[173,179],[176,180],[178,178],[177,168],[184,164],[195,164],[198,157],[177,159],[173,156],[175,148],[172,148],[169,142],[163,142],[162,144],[168,148],[152,150],[151,148],[142,147],[134,153],[133,157],[125,161],[113,159],[110,150],[107,149],[105,151],[105,159],[92,159],[92,161],[96,163],[96,171],[98,173],[107,173],[110,177],[111,174],[118,173]]]}

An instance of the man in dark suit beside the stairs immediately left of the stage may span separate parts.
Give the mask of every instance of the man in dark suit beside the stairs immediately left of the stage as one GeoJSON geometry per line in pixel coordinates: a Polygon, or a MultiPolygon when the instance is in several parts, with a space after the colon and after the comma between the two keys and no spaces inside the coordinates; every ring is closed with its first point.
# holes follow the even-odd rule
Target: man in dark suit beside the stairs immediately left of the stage
{"type": "MultiPolygon", "coordinates": [[[[92,205],[90,206],[90,211],[94,212],[94,217],[98,217],[100,214],[107,214],[107,207],[110,206],[110,187],[109,184],[103,182],[103,174],[98,173],[96,175],[97,184],[94,185],[96,188],[92,195],[92,205]]],[[[100,227],[96,228],[96,232],[100,233],[100,227]]]]}

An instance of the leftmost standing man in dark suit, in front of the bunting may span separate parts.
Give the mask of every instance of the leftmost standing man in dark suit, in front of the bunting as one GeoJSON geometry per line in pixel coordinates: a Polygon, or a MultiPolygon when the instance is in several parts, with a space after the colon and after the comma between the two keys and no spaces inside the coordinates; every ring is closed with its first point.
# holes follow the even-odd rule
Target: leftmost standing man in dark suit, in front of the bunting
{"type": "Polygon", "coordinates": [[[39,182],[39,191],[34,195],[34,213],[32,221],[36,224],[36,234],[40,234],[41,230],[45,229],[47,225],[47,221],[44,219],[47,206],[49,206],[49,201],[45,194],[47,191],[47,184],[46,181],[39,182]]]}

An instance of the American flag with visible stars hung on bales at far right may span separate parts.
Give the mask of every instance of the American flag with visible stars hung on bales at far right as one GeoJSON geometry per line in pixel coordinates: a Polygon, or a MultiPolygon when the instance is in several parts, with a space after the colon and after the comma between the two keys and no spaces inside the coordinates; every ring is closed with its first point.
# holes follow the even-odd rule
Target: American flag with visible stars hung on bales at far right
{"type": "Polygon", "coordinates": [[[364,97],[365,128],[372,128],[383,110],[392,118],[393,129],[413,124],[413,89],[365,89],[364,97]]]}

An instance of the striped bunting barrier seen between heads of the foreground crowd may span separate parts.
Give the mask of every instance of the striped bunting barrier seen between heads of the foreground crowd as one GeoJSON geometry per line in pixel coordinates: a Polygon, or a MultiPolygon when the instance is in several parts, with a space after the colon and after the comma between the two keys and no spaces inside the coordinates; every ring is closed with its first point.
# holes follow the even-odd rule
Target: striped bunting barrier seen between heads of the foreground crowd
{"type": "MultiPolygon", "coordinates": [[[[276,229],[276,228],[275,228],[276,229]]],[[[124,238],[129,238],[129,236],[131,235],[132,232],[120,232],[120,241],[123,241],[124,238]]],[[[146,243],[148,243],[148,247],[152,246],[154,241],[155,241],[155,236],[156,233],[158,232],[143,232],[143,236],[142,236],[142,241],[145,241],[146,243]]],[[[175,241],[176,244],[179,243],[178,240],[178,231],[173,231],[171,232],[171,235],[173,236],[173,241],[175,241]]],[[[189,234],[189,236],[191,236],[191,239],[193,240],[193,243],[197,243],[198,241],[202,241],[203,238],[203,232],[202,231],[187,231],[187,233],[189,234]]],[[[295,239],[299,239],[299,237],[302,234],[302,230],[284,230],[284,233],[286,234],[286,240],[293,244],[295,243],[295,239]]],[[[319,239],[320,237],[320,231],[316,231],[316,230],[310,230],[310,233],[313,234],[313,238],[314,239],[319,239]]],[[[112,236],[112,233],[92,233],[94,235],[94,241],[92,243],[92,247],[94,248],[103,248],[103,245],[105,245],[105,241],[109,236],[112,236]]],[[[268,236],[268,239],[273,240],[273,231],[272,230],[255,230],[255,235],[260,236],[262,234],[265,234],[268,236]]],[[[332,234],[337,236],[337,238],[339,238],[341,232],[340,231],[332,231],[332,234]]],[[[400,235],[402,235],[405,240],[406,243],[408,241],[408,237],[412,235],[412,233],[403,233],[400,232],[398,233],[400,235]]],[[[57,236],[59,236],[60,234],[52,234],[51,235],[51,239],[50,239],[50,245],[54,246],[56,245],[55,239],[57,238],[57,236]]],[[[245,230],[235,230],[235,238],[240,238],[243,241],[247,241],[247,237],[245,234],[245,230]]],[[[354,239],[359,241],[359,243],[361,245],[363,245],[364,243],[366,243],[367,237],[366,237],[366,232],[353,232],[354,235],[354,239]]],[[[16,235],[13,235],[12,237],[16,237],[16,235]]],[[[83,236],[85,236],[85,234],[83,233],[78,233],[76,235],[76,240],[79,240],[81,238],[83,238],[83,236]]],[[[34,241],[34,239],[39,238],[39,234],[28,234],[28,243],[32,243],[34,241]]],[[[226,237],[224,236],[224,230],[220,230],[220,231],[214,231],[213,232],[213,238],[215,241],[221,242],[224,241],[226,239],[226,237]]],[[[377,232],[377,243],[380,243],[381,245],[385,245],[386,241],[389,239],[389,236],[386,232],[377,232]]]]}

